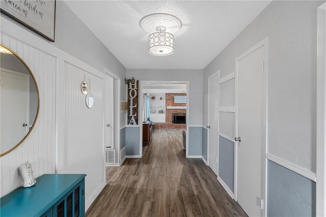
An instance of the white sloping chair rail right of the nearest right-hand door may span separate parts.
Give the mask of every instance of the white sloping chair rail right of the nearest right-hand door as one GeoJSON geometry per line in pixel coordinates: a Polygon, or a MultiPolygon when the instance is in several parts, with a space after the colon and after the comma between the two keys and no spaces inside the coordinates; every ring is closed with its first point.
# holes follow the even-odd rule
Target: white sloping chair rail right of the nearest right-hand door
{"type": "Polygon", "coordinates": [[[296,164],[285,161],[285,160],[283,160],[279,157],[276,157],[270,153],[266,153],[266,159],[269,161],[273,161],[274,163],[277,163],[289,170],[292,170],[293,172],[296,172],[297,174],[305,176],[306,178],[309,178],[310,180],[316,181],[316,173],[306,170],[305,168],[302,168],[296,164]]]}

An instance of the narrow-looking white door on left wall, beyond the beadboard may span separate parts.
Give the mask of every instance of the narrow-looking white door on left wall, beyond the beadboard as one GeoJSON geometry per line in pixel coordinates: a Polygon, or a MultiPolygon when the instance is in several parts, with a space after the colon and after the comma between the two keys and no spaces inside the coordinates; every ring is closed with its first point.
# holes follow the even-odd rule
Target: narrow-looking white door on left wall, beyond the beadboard
{"type": "Polygon", "coordinates": [[[113,148],[113,78],[107,76],[105,84],[105,147],[113,148]]]}

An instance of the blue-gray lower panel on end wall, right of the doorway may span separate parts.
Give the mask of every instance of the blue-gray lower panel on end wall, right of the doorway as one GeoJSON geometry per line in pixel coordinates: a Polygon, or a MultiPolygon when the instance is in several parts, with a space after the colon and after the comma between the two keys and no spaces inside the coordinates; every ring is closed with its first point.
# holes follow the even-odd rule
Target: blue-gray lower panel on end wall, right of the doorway
{"type": "Polygon", "coordinates": [[[189,127],[188,155],[202,156],[202,127],[189,127]]]}

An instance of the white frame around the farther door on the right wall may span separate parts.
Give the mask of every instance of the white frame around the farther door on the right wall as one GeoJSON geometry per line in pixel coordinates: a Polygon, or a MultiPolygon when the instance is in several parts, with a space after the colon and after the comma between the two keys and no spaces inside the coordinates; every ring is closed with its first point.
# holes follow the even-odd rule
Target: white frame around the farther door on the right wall
{"type": "MultiPolygon", "coordinates": [[[[210,122],[209,122],[209,80],[214,77],[214,76],[219,76],[218,80],[220,81],[220,70],[214,72],[212,75],[210,75],[207,78],[207,126],[210,126],[210,122]]],[[[218,107],[216,108],[216,110],[218,111],[218,129],[220,129],[220,112],[219,112],[219,105],[220,105],[220,84],[216,84],[218,86],[218,107]]],[[[216,132],[218,134],[218,150],[219,150],[219,132],[216,132]]],[[[219,159],[219,151],[218,151],[218,157],[219,159]]],[[[216,176],[219,176],[219,160],[218,162],[216,162],[217,164],[217,170],[216,170],[216,176]]],[[[209,129],[207,129],[207,165],[209,166],[209,129]]]]}

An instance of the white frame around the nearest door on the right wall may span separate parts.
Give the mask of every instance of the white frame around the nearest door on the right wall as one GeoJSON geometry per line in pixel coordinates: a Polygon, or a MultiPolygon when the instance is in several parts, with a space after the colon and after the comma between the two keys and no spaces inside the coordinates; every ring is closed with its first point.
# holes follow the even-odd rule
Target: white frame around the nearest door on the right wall
{"type": "MultiPolygon", "coordinates": [[[[266,111],[265,111],[265,118],[266,118],[266,129],[265,129],[265,145],[262,147],[263,149],[263,160],[262,160],[262,168],[264,173],[264,179],[262,180],[263,184],[263,198],[264,198],[264,216],[266,216],[266,150],[267,150],[267,132],[268,132],[268,37],[251,47],[249,50],[242,53],[235,59],[235,137],[238,137],[238,62],[243,59],[244,57],[248,56],[249,54],[255,52],[259,48],[265,46],[266,47],[266,62],[265,62],[265,71],[266,71],[266,111]]],[[[234,200],[237,201],[237,158],[238,158],[238,142],[235,141],[234,147],[234,200]]]]}

